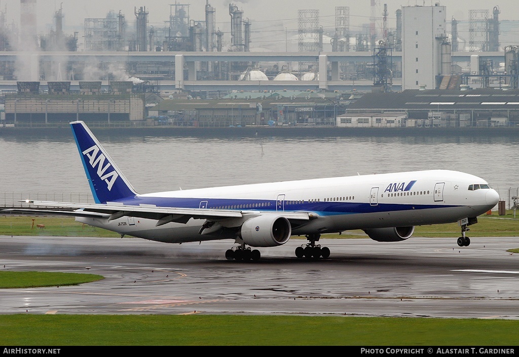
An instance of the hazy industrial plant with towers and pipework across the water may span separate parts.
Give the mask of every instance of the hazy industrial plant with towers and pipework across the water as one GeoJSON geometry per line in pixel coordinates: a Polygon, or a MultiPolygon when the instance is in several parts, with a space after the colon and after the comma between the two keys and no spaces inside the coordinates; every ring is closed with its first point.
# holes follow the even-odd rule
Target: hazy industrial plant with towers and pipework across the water
{"type": "Polygon", "coordinates": [[[371,0],[368,23],[350,26],[350,8],[337,6],[333,28],[322,26],[319,10],[299,9],[291,30],[297,49],[289,50],[285,27],[284,42],[265,50],[254,43],[261,30],[254,30],[247,3],[215,8],[208,0],[203,13],[193,13],[190,4],[175,2],[159,25],[149,24],[145,6],[131,14],[111,10],[84,19],[73,33],[64,30],[61,5],[43,34],[36,2],[20,0],[19,27],[8,25],[7,8],[0,9],[0,127],[69,120],[350,127],[357,117],[357,126],[466,127],[519,120],[511,102],[519,92],[519,46],[508,36],[519,22],[500,20],[498,6],[458,20],[447,19],[440,3],[388,9],[371,0]],[[228,16],[225,26],[217,11],[228,16]],[[459,99],[476,95],[481,103],[470,107],[459,99]],[[389,107],[359,107],[375,98],[400,103],[397,119],[377,116],[389,107]],[[373,115],[359,113],[364,109],[373,115]]]}

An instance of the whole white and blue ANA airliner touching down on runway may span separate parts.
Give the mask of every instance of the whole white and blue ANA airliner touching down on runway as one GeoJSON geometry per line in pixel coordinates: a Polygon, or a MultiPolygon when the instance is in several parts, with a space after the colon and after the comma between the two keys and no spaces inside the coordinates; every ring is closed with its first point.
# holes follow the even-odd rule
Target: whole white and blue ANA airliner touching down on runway
{"type": "Polygon", "coordinates": [[[9,209],[76,221],[144,239],[180,243],[233,239],[231,260],[258,260],[260,247],[306,236],[297,258],[330,256],[325,233],[363,230],[380,242],[411,237],[416,225],[458,222],[460,247],[468,226],[499,201],[485,180],[453,170],[424,170],[139,194],[83,121],[70,123],[95,203],[26,201],[49,209],[9,209]],[[60,210],[61,209],[61,210],[60,210]],[[67,210],[63,210],[67,209],[67,210]]]}

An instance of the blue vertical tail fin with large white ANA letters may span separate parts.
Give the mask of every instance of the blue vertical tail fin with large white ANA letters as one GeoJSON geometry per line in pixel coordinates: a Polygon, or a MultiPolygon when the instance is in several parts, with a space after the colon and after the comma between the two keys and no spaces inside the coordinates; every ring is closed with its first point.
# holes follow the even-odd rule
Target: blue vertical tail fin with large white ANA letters
{"type": "Polygon", "coordinates": [[[117,201],[137,193],[83,121],[70,123],[95,203],[117,201]]]}

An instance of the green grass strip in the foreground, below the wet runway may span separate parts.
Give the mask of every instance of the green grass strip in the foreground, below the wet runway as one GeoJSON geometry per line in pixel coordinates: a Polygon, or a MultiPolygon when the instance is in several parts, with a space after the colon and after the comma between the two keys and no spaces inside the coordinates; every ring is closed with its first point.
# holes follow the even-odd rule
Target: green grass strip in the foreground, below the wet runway
{"type": "Polygon", "coordinates": [[[516,346],[517,320],[6,315],[5,346],[516,346]]]}

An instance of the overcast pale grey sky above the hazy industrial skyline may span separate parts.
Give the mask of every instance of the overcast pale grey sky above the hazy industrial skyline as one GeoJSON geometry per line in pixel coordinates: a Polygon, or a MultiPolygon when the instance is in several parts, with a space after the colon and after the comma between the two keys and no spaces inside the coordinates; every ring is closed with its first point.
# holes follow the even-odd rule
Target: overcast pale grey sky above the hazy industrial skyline
{"type": "MultiPolygon", "coordinates": [[[[189,16],[192,20],[204,19],[204,7],[206,0],[176,0],[179,4],[190,4],[189,16]]],[[[381,12],[384,4],[388,5],[388,26],[395,27],[395,11],[401,6],[426,5],[431,6],[439,2],[440,5],[447,7],[447,19],[456,18],[457,20],[468,20],[469,9],[489,10],[490,15],[494,6],[498,6],[501,13],[500,20],[515,20],[519,5],[516,0],[470,0],[470,1],[431,1],[431,0],[378,0],[376,16],[381,22],[381,12]]],[[[162,27],[164,22],[169,19],[170,6],[175,0],[154,0],[154,1],[128,1],[128,0],[37,0],[38,11],[38,31],[48,32],[53,27],[54,11],[63,7],[65,31],[72,26],[75,31],[81,31],[85,18],[104,18],[109,10],[116,13],[119,10],[125,15],[128,22],[135,21],[134,10],[139,7],[146,7],[149,12],[149,25],[162,27]]],[[[335,7],[349,6],[350,8],[350,30],[359,30],[362,24],[370,22],[371,2],[370,0],[345,1],[345,0],[210,0],[209,3],[216,10],[216,26],[222,31],[228,31],[230,17],[228,13],[229,3],[236,4],[243,10],[244,18],[249,18],[253,31],[252,39],[256,42],[264,38],[268,41],[269,36],[282,37],[283,28],[287,32],[297,30],[297,10],[299,9],[319,9],[320,25],[326,30],[332,30],[335,24],[335,7]],[[277,30],[275,30],[277,29],[277,30]],[[270,32],[269,32],[270,31],[270,32]]],[[[7,6],[7,24],[20,23],[20,0],[0,0],[0,8],[4,11],[7,6]]],[[[282,41],[282,40],[280,40],[282,41]]],[[[290,40],[289,40],[290,42],[290,40]]],[[[251,44],[253,47],[254,44],[251,44]]],[[[295,48],[294,48],[295,50],[295,48]]]]}

